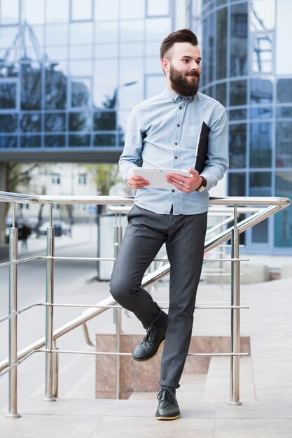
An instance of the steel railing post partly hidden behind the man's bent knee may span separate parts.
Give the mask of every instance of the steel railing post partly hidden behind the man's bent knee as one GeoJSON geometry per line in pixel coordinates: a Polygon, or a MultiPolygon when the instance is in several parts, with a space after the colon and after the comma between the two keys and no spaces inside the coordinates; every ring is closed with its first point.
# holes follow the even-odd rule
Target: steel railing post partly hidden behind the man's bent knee
{"type": "MultiPolygon", "coordinates": [[[[123,237],[120,213],[116,214],[116,225],[113,228],[113,257],[118,254],[118,248],[123,237]]],[[[116,323],[116,353],[120,353],[120,333],[122,331],[122,309],[114,309],[114,320],[116,323]]],[[[120,399],[120,356],[116,355],[116,399],[120,399]]]]}

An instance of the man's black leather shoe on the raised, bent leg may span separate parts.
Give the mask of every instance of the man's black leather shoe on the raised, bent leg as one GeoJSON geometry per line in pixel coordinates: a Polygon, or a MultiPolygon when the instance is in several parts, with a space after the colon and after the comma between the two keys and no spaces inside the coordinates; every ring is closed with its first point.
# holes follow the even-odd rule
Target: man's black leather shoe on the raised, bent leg
{"type": "Polygon", "coordinates": [[[144,362],[155,356],[159,347],[165,341],[165,332],[167,327],[148,327],[146,337],[137,345],[132,353],[132,360],[144,362]]]}

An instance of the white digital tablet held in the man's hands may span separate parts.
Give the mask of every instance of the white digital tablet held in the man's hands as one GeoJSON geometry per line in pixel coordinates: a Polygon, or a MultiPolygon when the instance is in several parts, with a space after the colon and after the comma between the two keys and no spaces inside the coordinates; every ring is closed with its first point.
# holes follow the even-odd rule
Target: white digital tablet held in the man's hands
{"type": "Polygon", "coordinates": [[[132,172],[135,176],[142,176],[149,181],[150,184],[146,185],[145,188],[173,189],[174,185],[167,183],[166,181],[166,176],[168,174],[177,174],[190,178],[190,173],[184,169],[150,169],[148,167],[134,167],[132,172]]]}

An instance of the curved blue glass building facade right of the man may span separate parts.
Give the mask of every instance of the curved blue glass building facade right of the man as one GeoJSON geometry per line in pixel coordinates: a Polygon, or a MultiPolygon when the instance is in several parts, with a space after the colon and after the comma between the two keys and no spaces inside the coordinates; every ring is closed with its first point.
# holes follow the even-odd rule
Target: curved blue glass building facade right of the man
{"type": "MultiPolygon", "coordinates": [[[[200,90],[221,101],[230,122],[228,195],[292,198],[292,1],[202,0],[200,20],[195,3],[200,90]]],[[[245,243],[291,254],[291,207],[253,227],[245,243]]]]}

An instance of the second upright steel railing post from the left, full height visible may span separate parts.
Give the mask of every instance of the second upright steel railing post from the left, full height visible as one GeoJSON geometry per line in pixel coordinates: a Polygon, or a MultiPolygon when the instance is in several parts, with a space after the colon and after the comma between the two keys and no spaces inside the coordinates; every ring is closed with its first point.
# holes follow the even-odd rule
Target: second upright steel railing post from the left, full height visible
{"type": "MultiPolygon", "coordinates": [[[[52,227],[52,204],[50,204],[50,227],[47,229],[47,255],[55,255],[55,228],[52,227]]],[[[54,302],[54,260],[48,259],[46,266],[46,303],[54,302]]],[[[43,400],[55,402],[53,397],[53,306],[46,306],[46,382],[43,400]]]]}

